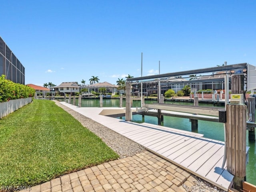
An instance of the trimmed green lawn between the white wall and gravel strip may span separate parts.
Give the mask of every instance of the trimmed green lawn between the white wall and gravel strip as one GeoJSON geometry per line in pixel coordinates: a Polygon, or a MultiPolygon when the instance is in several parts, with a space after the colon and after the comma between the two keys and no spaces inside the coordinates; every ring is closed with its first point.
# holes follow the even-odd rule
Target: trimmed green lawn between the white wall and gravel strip
{"type": "Polygon", "coordinates": [[[34,100],[0,119],[0,186],[34,186],[116,158],[53,101],[34,100]]]}

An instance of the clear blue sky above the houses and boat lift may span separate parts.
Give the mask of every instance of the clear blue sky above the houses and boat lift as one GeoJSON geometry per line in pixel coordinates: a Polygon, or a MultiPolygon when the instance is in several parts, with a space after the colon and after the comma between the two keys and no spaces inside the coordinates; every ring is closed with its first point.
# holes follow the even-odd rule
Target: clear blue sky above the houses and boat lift
{"type": "Polygon", "coordinates": [[[25,83],[256,65],[255,0],[8,0],[0,36],[25,83]]]}

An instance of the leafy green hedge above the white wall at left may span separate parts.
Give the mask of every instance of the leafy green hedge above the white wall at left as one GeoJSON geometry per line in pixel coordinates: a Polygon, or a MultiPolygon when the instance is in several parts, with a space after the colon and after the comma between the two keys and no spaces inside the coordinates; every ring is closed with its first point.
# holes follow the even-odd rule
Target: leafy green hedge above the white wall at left
{"type": "Polygon", "coordinates": [[[34,94],[35,90],[33,88],[7,80],[5,75],[0,76],[0,102],[28,98],[34,96],[34,94]]]}

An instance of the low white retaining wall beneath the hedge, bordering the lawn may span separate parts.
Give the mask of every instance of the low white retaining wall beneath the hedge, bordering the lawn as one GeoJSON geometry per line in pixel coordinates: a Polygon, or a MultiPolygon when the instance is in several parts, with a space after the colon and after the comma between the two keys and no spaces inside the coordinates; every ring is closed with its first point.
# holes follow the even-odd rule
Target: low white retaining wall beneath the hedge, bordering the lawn
{"type": "Polygon", "coordinates": [[[0,119],[32,102],[32,97],[0,103],[0,119]]]}

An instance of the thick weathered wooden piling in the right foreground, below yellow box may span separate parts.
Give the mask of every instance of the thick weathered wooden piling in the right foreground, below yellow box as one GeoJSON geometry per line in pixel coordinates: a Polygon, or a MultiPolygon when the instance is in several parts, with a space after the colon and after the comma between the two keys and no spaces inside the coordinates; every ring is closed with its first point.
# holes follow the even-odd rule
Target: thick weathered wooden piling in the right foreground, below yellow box
{"type": "Polygon", "coordinates": [[[246,176],[246,105],[226,105],[226,163],[234,175],[233,188],[240,190],[246,176]]]}

